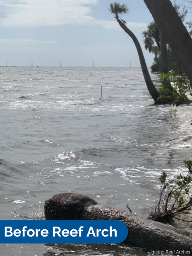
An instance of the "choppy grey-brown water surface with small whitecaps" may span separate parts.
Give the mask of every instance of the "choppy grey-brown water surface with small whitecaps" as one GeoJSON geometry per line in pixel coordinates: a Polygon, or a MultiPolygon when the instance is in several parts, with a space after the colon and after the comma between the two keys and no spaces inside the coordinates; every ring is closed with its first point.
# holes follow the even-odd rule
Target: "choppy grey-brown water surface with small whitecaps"
{"type": "MultiPolygon", "coordinates": [[[[139,68],[0,68],[1,219],[44,219],[82,193],[148,215],[159,177],[192,155],[191,106],[154,106],[139,68]],[[103,88],[100,98],[101,86],[103,88]]],[[[1,255],[123,256],[117,245],[0,245],[1,255]]]]}

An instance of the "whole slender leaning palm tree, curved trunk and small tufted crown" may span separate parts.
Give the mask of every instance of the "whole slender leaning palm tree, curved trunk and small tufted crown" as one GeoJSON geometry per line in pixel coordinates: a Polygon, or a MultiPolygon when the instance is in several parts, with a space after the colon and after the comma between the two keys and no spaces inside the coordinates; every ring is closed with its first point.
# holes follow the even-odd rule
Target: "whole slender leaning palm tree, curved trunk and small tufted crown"
{"type": "Polygon", "coordinates": [[[122,14],[128,14],[128,12],[129,12],[128,6],[126,4],[119,4],[117,2],[114,2],[114,3],[110,4],[110,8],[108,8],[108,9],[110,10],[111,14],[114,15],[114,18],[116,18],[116,20],[119,23],[119,25],[121,26],[121,28],[123,28],[123,30],[132,38],[132,40],[135,44],[135,47],[137,48],[143,76],[144,76],[148,91],[149,91],[151,97],[154,99],[155,103],[160,103],[160,102],[158,102],[158,98],[159,98],[160,94],[150,78],[149,71],[148,71],[148,68],[147,68],[147,65],[145,62],[145,58],[144,58],[140,43],[139,43],[137,37],[134,35],[134,33],[132,31],[130,31],[130,29],[126,26],[126,24],[127,24],[126,21],[122,20],[122,18],[119,17],[122,14]]]}

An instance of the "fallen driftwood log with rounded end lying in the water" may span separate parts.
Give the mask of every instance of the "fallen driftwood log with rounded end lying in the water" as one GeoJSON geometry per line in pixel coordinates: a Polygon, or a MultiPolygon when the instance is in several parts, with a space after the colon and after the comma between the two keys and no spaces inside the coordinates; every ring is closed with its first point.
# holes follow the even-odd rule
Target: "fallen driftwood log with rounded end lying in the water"
{"type": "Polygon", "coordinates": [[[81,194],[57,194],[45,202],[44,209],[46,220],[121,220],[128,228],[123,244],[165,253],[166,250],[175,250],[177,255],[185,255],[183,251],[187,251],[186,255],[192,253],[189,233],[130,212],[99,205],[81,194]]]}

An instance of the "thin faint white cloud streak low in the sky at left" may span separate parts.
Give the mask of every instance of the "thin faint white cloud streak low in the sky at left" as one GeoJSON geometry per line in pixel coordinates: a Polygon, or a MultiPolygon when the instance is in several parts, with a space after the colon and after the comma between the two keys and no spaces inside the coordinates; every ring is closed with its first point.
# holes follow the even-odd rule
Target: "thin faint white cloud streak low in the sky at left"
{"type": "Polygon", "coordinates": [[[0,39],[0,44],[26,44],[26,45],[42,45],[42,44],[57,44],[57,41],[36,41],[33,39],[20,39],[20,38],[15,38],[15,39],[0,39]]]}

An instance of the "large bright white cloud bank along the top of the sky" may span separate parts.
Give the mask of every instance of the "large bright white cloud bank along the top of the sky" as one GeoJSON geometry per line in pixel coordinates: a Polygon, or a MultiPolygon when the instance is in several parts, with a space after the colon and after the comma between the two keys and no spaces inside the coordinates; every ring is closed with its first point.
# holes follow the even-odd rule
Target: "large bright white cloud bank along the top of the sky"
{"type": "MultiPolygon", "coordinates": [[[[90,7],[98,0],[0,0],[5,17],[1,27],[36,27],[64,24],[100,25],[105,29],[121,29],[116,21],[96,20],[89,16],[90,7]]],[[[142,31],[146,24],[128,22],[131,30],[142,31]]]]}

